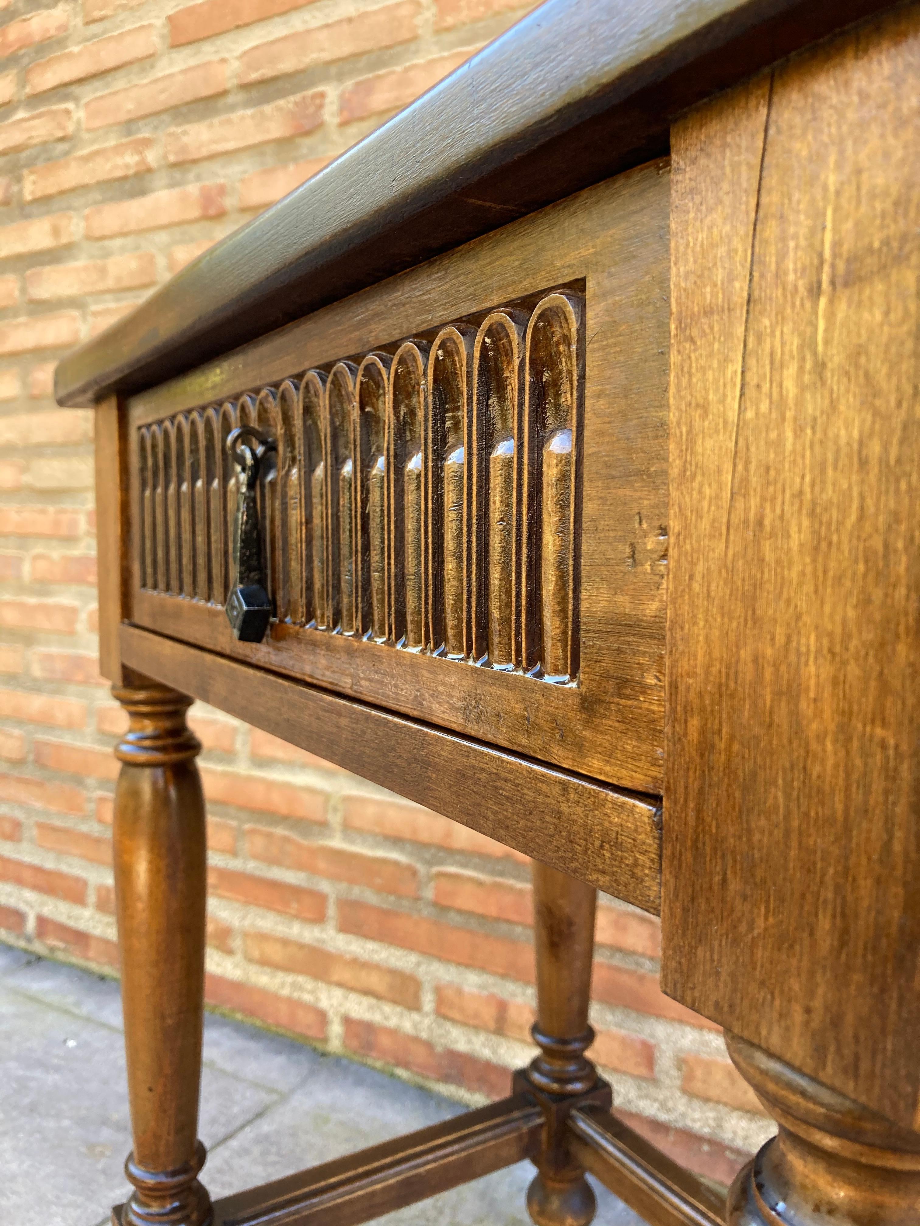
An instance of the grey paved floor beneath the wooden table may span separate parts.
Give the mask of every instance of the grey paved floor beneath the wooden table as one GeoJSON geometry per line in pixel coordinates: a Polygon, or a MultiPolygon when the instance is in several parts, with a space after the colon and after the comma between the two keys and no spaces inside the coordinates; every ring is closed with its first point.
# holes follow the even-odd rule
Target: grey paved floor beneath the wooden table
{"type": "MultiPolygon", "coordinates": [[[[0,1222],[107,1226],[128,1186],[118,983],[0,945],[0,1222]]],[[[212,1195],[424,1128],[462,1108],[255,1026],[205,1022],[201,1139],[212,1195]]],[[[526,1226],[529,1163],[380,1219],[526,1226]]],[[[597,1226],[643,1226],[597,1188],[597,1226]]]]}

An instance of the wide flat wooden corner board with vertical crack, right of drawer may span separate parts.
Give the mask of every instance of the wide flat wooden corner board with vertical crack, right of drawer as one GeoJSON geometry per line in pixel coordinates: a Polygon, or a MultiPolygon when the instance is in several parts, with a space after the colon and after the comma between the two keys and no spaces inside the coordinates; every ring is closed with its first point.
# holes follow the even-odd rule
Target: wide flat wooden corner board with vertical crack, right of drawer
{"type": "Polygon", "coordinates": [[[920,7],[672,141],[662,986],[920,1125],[920,7]]]}

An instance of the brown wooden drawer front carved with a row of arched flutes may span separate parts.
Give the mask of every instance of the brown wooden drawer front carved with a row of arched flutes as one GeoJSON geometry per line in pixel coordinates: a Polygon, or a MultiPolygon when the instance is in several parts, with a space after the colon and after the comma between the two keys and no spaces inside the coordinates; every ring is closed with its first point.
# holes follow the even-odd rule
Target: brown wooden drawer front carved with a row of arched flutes
{"type": "Polygon", "coordinates": [[[523,218],[129,407],[131,619],[660,790],[667,168],[523,218]],[[238,642],[238,427],[265,640],[238,642]]]}

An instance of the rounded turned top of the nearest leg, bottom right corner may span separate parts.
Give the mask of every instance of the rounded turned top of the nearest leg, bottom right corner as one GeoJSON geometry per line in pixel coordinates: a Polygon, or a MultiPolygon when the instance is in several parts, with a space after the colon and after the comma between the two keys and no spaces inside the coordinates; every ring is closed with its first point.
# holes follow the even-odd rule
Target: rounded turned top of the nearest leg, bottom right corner
{"type": "Polygon", "coordinates": [[[729,1193],[730,1226],[916,1226],[920,1133],[736,1035],[735,1067],[779,1124],[729,1193]]]}

